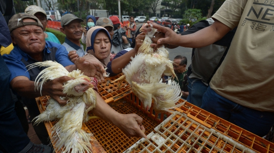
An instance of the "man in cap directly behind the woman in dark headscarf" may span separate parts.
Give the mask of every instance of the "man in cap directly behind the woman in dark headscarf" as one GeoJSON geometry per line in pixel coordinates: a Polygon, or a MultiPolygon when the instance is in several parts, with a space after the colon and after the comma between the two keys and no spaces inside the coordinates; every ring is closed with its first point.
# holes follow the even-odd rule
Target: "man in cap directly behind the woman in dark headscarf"
{"type": "MultiPolygon", "coordinates": [[[[118,22],[120,23],[120,21],[118,21],[118,22]]],[[[118,24],[117,21],[115,23],[118,24]]],[[[99,18],[96,21],[96,26],[101,26],[101,27],[106,28],[109,31],[110,35],[111,35],[111,39],[113,39],[114,26],[113,26],[113,22],[111,21],[111,19],[109,19],[109,18],[99,18]]],[[[123,39],[123,43],[118,44],[118,45],[115,45],[115,44],[112,45],[112,47],[111,47],[111,53],[112,54],[117,54],[121,50],[123,50],[127,47],[130,47],[130,44],[127,41],[126,37],[122,37],[122,39],[123,39]]]]}

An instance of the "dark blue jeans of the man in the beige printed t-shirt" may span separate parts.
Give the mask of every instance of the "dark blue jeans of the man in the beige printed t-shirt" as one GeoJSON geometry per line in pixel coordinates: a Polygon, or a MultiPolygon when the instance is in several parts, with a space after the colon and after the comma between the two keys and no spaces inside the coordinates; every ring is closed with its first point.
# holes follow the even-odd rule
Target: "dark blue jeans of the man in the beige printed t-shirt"
{"type": "Polygon", "coordinates": [[[261,112],[236,104],[210,86],[202,97],[201,108],[261,137],[274,124],[274,112],[261,112]]]}

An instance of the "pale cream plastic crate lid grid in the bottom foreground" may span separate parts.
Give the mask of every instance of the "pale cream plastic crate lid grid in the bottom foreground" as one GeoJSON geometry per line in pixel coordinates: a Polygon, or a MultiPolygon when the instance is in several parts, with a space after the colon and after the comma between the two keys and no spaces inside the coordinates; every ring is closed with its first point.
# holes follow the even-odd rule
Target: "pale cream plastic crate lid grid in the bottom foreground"
{"type": "Polygon", "coordinates": [[[164,151],[169,150],[170,152],[256,152],[246,145],[238,143],[231,137],[218,132],[214,128],[208,128],[179,112],[170,115],[165,121],[155,127],[154,130],[161,136],[161,142],[164,143],[159,143],[157,146],[154,145],[155,140],[153,136],[157,134],[151,132],[148,135],[148,139],[139,140],[124,151],[124,153],[149,153],[155,152],[156,150],[162,152],[163,149],[164,151]],[[182,120],[184,122],[182,122],[182,120]],[[184,126],[184,123],[190,124],[189,126],[184,126]],[[164,131],[161,129],[164,129],[164,131]],[[179,129],[184,129],[184,132],[180,132],[181,134],[178,135],[176,133],[179,129]],[[205,137],[204,135],[208,136],[205,137]],[[147,149],[147,146],[140,149],[142,147],[139,147],[139,145],[142,145],[145,141],[149,142],[147,146],[153,146],[153,149],[147,149]],[[137,151],[136,148],[139,148],[139,151],[137,151]]]}

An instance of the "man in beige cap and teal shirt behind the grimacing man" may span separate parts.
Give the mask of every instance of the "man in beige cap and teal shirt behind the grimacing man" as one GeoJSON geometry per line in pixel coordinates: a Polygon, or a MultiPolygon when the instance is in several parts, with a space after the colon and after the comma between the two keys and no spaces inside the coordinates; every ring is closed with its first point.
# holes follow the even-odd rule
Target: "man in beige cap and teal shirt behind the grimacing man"
{"type": "Polygon", "coordinates": [[[25,9],[25,14],[30,14],[30,15],[34,15],[36,16],[40,22],[43,25],[43,31],[45,34],[45,40],[48,41],[52,41],[52,42],[56,42],[56,43],[60,43],[60,41],[58,40],[58,38],[51,32],[45,32],[46,30],[46,26],[48,24],[48,20],[47,20],[47,14],[45,12],[45,10],[43,8],[40,8],[38,6],[28,6],[25,9]]]}

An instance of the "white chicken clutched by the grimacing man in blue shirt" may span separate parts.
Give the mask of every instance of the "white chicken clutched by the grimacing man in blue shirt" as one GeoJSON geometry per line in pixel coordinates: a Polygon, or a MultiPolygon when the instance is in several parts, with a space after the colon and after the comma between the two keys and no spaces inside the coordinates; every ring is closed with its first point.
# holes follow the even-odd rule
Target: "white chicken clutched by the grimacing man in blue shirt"
{"type": "Polygon", "coordinates": [[[42,91],[43,84],[61,76],[74,78],[64,83],[63,93],[68,97],[65,106],[50,98],[46,110],[36,119],[35,124],[43,121],[59,120],[52,127],[52,143],[56,150],[61,152],[92,152],[90,144],[91,134],[82,130],[82,123],[89,120],[88,112],[96,106],[96,95],[92,89],[90,78],[83,75],[80,70],[68,72],[57,62],[45,61],[30,65],[33,67],[48,67],[41,71],[35,80],[35,86],[42,91]],[[42,80],[40,82],[40,80],[42,80]]]}

